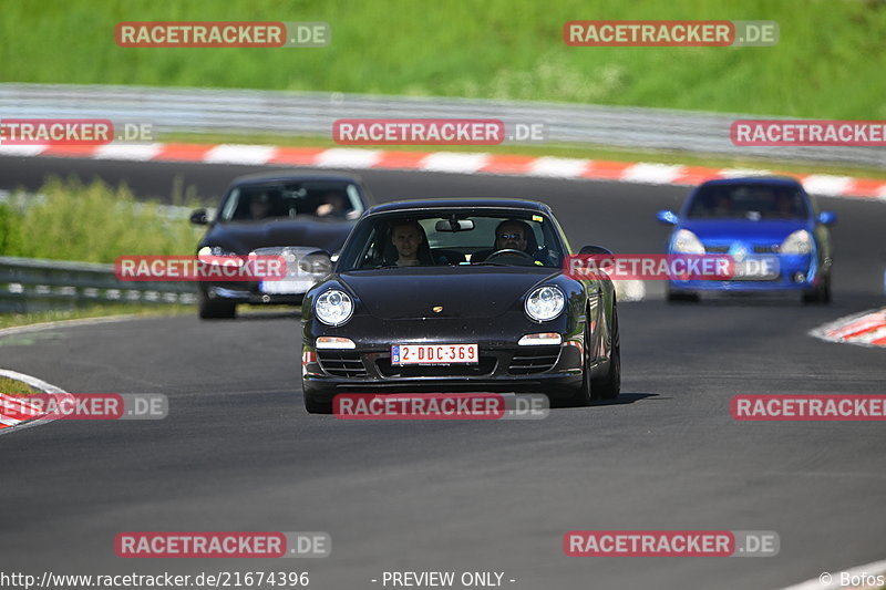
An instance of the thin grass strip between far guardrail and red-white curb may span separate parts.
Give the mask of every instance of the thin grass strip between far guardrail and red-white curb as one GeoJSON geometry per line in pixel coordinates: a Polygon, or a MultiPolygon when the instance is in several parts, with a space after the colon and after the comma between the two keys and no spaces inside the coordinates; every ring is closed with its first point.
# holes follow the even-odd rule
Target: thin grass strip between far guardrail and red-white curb
{"type": "MultiPolygon", "coordinates": [[[[296,147],[343,147],[329,137],[293,137],[271,134],[196,134],[171,133],[159,137],[164,142],[204,143],[204,144],[259,144],[296,147]]],[[[364,146],[374,149],[373,146],[364,146]]],[[[385,145],[382,149],[404,152],[484,152],[488,154],[519,154],[527,156],[553,156],[564,158],[604,159],[614,162],[649,162],[658,164],[682,164],[686,166],[711,166],[717,168],[760,168],[791,174],[833,174],[836,176],[858,176],[886,179],[886,169],[869,166],[848,166],[838,164],[804,164],[796,161],[779,161],[773,158],[703,156],[683,152],[620,149],[595,145],[574,144],[511,144],[511,145],[447,145],[444,147],[427,145],[385,145]]]]}

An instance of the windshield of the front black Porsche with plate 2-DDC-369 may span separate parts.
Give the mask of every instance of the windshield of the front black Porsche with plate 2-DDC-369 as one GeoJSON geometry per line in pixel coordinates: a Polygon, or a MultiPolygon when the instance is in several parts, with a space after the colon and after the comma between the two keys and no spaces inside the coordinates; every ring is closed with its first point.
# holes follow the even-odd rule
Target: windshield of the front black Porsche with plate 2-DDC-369
{"type": "Polygon", "coordinates": [[[339,271],[429,266],[563,263],[563,245],[540,215],[435,215],[370,218],[354,228],[339,271]]]}

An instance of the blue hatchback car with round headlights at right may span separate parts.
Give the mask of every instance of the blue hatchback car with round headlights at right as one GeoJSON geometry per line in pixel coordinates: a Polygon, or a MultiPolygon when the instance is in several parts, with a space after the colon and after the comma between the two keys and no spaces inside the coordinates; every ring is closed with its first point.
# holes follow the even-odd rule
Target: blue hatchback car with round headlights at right
{"type": "Polygon", "coordinates": [[[728,255],[729,280],[679,280],[668,301],[698,301],[702,291],[799,291],[806,303],[831,301],[832,246],[827,226],[836,214],[818,211],[793,178],[709,180],[697,187],[678,216],[659,211],[674,227],[669,255],[728,255]]]}

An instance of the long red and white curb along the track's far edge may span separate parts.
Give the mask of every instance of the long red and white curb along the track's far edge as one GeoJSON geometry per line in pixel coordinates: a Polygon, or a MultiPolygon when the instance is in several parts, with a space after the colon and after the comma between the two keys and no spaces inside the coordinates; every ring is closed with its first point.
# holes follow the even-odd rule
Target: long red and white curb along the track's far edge
{"type": "Polygon", "coordinates": [[[2,156],[50,156],[128,162],[188,162],[253,166],[394,169],[454,174],[497,174],[546,178],[612,180],[693,186],[712,178],[779,174],[800,179],[812,194],[886,200],[886,180],[765,169],[713,168],[671,164],[611,162],[463,152],[398,152],[351,147],[275,147],[238,144],[6,145],[2,156]]]}

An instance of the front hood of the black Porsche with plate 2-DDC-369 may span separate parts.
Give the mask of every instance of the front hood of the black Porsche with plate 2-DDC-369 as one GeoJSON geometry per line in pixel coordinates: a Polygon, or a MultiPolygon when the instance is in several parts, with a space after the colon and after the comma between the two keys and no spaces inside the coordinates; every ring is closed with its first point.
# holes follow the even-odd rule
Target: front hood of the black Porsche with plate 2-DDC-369
{"type": "Polygon", "coordinates": [[[394,268],[347,272],[365,310],[381,320],[495,318],[559,270],[527,267],[394,268]],[[434,307],[443,310],[434,312],[434,307]]]}

